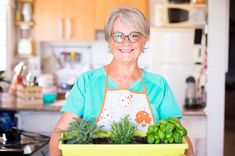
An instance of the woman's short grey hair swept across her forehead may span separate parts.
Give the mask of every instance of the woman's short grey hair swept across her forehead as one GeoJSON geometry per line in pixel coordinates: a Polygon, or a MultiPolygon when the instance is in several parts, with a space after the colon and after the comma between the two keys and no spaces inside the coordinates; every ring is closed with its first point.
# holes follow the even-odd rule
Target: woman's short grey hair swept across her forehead
{"type": "Polygon", "coordinates": [[[104,35],[106,41],[108,41],[111,37],[113,24],[118,18],[122,22],[134,26],[143,36],[145,36],[147,39],[149,38],[150,28],[143,13],[136,8],[121,7],[114,8],[106,20],[104,26],[104,35]]]}

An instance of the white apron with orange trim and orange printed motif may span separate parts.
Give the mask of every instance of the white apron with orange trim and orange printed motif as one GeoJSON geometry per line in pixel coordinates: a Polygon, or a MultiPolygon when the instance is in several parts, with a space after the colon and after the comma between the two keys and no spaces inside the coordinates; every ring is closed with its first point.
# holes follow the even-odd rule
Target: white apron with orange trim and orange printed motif
{"type": "Polygon", "coordinates": [[[141,72],[144,92],[135,92],[128,89],[108,89],[108,70],[105,82],[105,94],[102,108],[96,124],[102,129],[110,130],[113,121],[120,121],[125,115],[129,115],[130,122],[137,125],[137,130],[147,131],[155,119],[150,107],[149,99],[141,72]]]}

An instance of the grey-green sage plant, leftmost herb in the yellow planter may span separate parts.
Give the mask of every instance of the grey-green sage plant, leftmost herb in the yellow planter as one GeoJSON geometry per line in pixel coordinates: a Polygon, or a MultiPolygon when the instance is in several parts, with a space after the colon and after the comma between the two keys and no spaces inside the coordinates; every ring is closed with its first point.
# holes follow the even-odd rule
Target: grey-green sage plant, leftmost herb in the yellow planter
{"type": "Polygon", "coordinates": [[[97,125],[93,123],[95,118],[83,120],[73,118],[66,130],[59,131],[63,137],[59,139],[66,144],[89,144],[95,139],[98,131],[97,125]]]}

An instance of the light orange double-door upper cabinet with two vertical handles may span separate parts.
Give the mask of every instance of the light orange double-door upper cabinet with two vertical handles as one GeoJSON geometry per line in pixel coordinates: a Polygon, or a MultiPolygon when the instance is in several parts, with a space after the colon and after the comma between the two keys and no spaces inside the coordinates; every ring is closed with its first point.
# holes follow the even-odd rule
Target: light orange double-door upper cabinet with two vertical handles
{"type": "Polygon", "coordinates": [[[94,40],[94,0],[35,2],[37,41],[94,40]]]}

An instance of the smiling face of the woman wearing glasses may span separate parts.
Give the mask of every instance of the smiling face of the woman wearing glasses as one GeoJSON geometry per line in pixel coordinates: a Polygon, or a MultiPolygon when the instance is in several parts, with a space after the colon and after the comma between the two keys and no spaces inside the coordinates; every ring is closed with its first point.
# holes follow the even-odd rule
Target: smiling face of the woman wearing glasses
{"type": "MultiPolygon", "coordinates": [[[[118,18],[114,22],[112,30],[112,33],[116,32],[123,33],[124,35],[129,35],[133,32],[138,32],[138,30],[136,30],[136,28],[134,28],[130,24],[122,22],[118,18]]],[[[139,41],[132,42],[126,36],[124,41],[119,43],[115,42],[112,37],[110,37],[109,39],[109,47],[113,53],[114,61],[124,64],[137,63],[138,57],[143,51],[147,39],[144,36],[140,35],[139,41]]]]}

